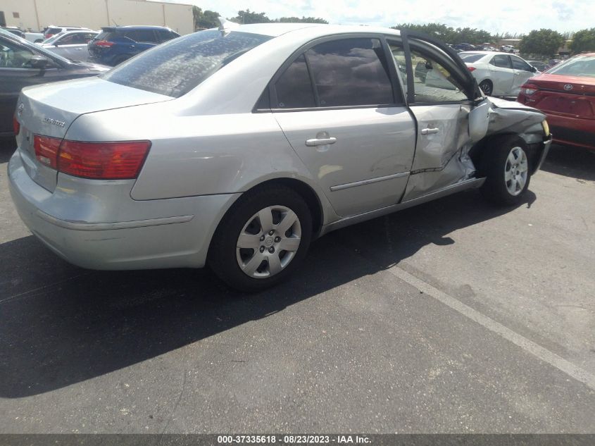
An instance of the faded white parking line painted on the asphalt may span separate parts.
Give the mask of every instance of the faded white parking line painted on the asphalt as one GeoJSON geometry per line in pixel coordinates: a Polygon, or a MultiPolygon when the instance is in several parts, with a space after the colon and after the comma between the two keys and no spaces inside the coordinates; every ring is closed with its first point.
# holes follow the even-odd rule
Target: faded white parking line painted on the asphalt
{"type": "Polygon", "coordinates": [[[595,376],[591,375],[591,373],[584,371],[582,368],[575,366],[575,364],[572,364],[563,357],[560,357],[557,354],[550,352],[548,349],[541,347],[541,345],[538,345],[535,342],[528,340],[526,337],[519,335],[510,328],[507,328],[501,323],[494,321],[494,319],[484,316],[479,311],[476,311],[470,306],[463,304],[463,302],[458,301],[451,295],[447,295],[445,292],[432,287],[432,285],[429,283],[426,283],[423,280],[415,277],[415,275],[404,271],[402,268],[399,268],[399,266],[392,266],[388,271],[409,285],[413,285],[418,290],[424,292],[424,294],[434,297],[434,299],[437,299],[439,302],[451,307],[451,309],[458,311],[458,313],[462,314],[463,316],[470,318],[472,321],[479,323],[488,330],[493,331],[494,333],[501,335],[501,337],[504,339],[512,342],[515,345],[518,345],[520,348],[525,350],[525,352],[529,352],[534,357],[537,357],[541,359],[541,361],[545,361],[551,366],[558,368],[558,370],[563,371],[568,376],[575,378],[575,380],[580,381],[581,383],[588,385],[589,388],[595,390],[595,376]]]}

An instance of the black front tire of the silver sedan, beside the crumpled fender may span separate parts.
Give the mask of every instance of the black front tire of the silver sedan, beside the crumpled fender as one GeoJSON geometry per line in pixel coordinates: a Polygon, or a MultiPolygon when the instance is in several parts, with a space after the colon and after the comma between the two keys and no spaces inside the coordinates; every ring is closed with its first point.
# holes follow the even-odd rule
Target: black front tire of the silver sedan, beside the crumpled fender
{"type": "MultiPolygon", "coordinates": [[[[522,155],[519,159],[518,166],[522,166],[522,155]]],[[[520,137],[505,135],[491,140],[484,148],[484,154],[480,161],[480,173],[486,177],[481,187],[483,196],[500,206],[515,206],[524,202],[531,180],[530,164],[527,144],[520,137]],[[518,174],[518,171],[521,171],[523,167],[513,171],[514,164],[509,159],[509,156],[516,159],[516,155],[520,154],[520,151],[525,157],[525,175],[518,174]],[[513,178],[518,178],[518,180],[513,180],[513,178]]]]}

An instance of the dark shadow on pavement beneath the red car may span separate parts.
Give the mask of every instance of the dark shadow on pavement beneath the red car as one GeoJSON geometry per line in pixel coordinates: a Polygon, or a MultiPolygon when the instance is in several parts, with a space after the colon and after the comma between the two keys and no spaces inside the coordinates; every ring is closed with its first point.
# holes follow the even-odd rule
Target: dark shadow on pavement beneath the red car
{"type": "Polygon", "coordinates": [[[595,181],[595,151],[552,145],[541,169],[579,180],[595,181]]]}

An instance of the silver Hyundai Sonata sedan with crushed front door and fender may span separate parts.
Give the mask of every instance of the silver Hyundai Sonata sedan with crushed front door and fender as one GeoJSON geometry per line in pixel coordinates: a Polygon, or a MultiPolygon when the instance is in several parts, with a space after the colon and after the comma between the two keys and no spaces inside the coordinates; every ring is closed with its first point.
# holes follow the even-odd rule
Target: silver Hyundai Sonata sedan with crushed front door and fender
{"type": "Polygon", "coordinates": [[[346,225],[473,187],[518,204],[551,144],[544,114],[484,97],[444,44],[308,24],[226,24],[24,89],[15,130],[11,194],[56,254],[209,264],[248,291],[346,225]]]}

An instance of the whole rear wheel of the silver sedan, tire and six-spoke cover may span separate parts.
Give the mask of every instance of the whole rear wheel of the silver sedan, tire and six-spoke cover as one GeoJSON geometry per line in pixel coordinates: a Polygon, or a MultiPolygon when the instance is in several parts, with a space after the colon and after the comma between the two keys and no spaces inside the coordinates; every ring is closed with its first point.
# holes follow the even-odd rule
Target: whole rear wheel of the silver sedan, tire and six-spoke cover
{"type": "Polygon", "coordinates": [[[246,192],[213,235],[209,263],[230,287],[263,290],[301,264],[312,235],[308,205],[289,187],[246,192]]]}

